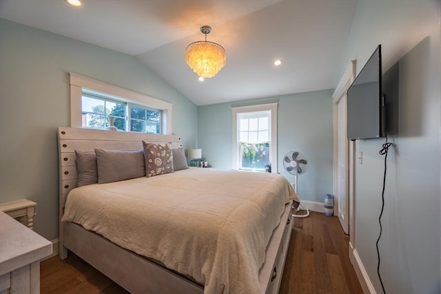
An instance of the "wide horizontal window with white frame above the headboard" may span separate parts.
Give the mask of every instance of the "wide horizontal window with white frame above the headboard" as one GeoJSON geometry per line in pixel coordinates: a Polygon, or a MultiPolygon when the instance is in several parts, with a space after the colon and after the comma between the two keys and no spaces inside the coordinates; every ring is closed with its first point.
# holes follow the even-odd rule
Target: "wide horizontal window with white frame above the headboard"
{"type": "Polygon", "coordinates": [[[70,73],[71,127],[172,134],[172,104],[70,73]]]}

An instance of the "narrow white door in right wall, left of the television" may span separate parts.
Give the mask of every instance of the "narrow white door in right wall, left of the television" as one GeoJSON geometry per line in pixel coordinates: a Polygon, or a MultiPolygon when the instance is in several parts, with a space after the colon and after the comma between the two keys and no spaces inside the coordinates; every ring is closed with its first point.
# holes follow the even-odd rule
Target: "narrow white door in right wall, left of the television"
{"type": "Polygon", "coordinates": [[[337,127],[337,142],[336,142],[336,193],[334,195],[335,204],[334,214],[337,213],[338,220],[342,224],[343,231],[349,234],[349,198],[348,198],[348,141],[346,136],[347,129],[347,96],[346,93],[337,103],[336,113],[336,127],[337,127]]]}

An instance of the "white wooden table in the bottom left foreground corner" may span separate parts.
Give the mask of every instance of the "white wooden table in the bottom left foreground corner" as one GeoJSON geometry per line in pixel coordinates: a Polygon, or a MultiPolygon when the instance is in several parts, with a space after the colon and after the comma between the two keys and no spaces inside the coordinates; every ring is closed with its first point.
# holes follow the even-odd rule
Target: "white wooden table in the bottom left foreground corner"
{"type": "Polygon", "coordinates": [[[0,293],[40,293],[40,260],[52,243],[0,211],[0,293]]]}

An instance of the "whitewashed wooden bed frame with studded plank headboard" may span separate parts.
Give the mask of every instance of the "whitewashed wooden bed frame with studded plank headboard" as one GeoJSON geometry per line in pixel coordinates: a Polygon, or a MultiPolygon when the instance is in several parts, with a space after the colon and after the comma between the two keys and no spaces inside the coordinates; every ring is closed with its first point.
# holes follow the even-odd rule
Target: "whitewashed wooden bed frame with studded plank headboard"
{"type": "MultiPolygon", "coordinates": [[[[182,147],[181,138],[172,135],[112,132],[95,129],[59,127],[59,219],[65,200],[77,187],[78,176],[74,150],[95,148],[115,150],[142,149],[142,140],[152,143],[172,142],[182,147]]],[[[291,204],[287,204],[280,225],[267,246],[265,264],[260,269],[260,293],[278,293],[292,229],[291,204]]],[[[152,260],[121,248],[92,231],[71,222],[59,223],[59,256],[65,259],[68,249],[79,255],[114,282],[131,293],[203,293],[203,286],[174,273],[152,260]]]]}

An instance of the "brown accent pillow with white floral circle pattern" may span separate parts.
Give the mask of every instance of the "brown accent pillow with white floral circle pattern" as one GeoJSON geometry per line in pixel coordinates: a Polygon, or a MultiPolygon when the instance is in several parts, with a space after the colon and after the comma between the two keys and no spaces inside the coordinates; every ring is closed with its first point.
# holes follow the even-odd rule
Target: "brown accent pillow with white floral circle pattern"
{"type": "Polygon", "coordinates": [[[172,143],[154,144],[143,141],[145,176],[159,176],[173,172],[172,143]]]}

